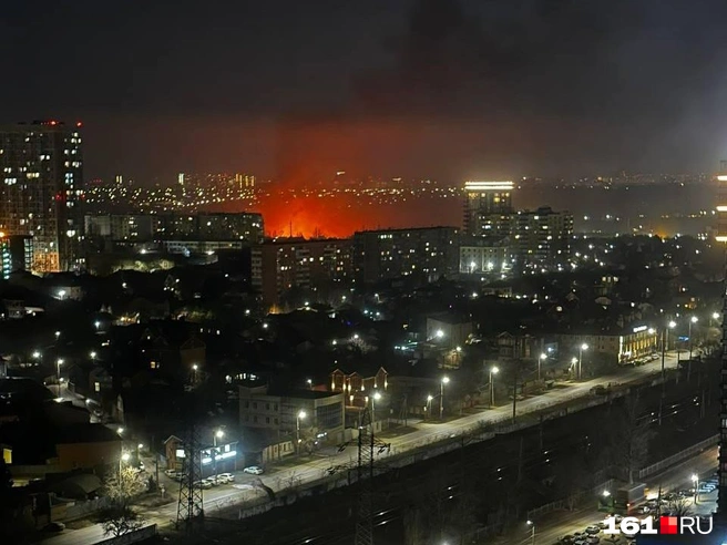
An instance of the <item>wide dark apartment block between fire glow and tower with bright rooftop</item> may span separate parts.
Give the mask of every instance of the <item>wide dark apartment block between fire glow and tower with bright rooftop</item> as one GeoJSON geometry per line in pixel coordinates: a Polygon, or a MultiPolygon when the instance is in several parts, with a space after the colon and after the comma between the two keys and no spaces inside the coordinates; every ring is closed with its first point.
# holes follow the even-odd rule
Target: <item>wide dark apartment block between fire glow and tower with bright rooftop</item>
{"type": "Polygon", "coordinates": [[[370,284],[403,276],[427,281],[451,277],[459,269],[459,229],[419,227],[354,234],[356,281],[370,284]]]}

